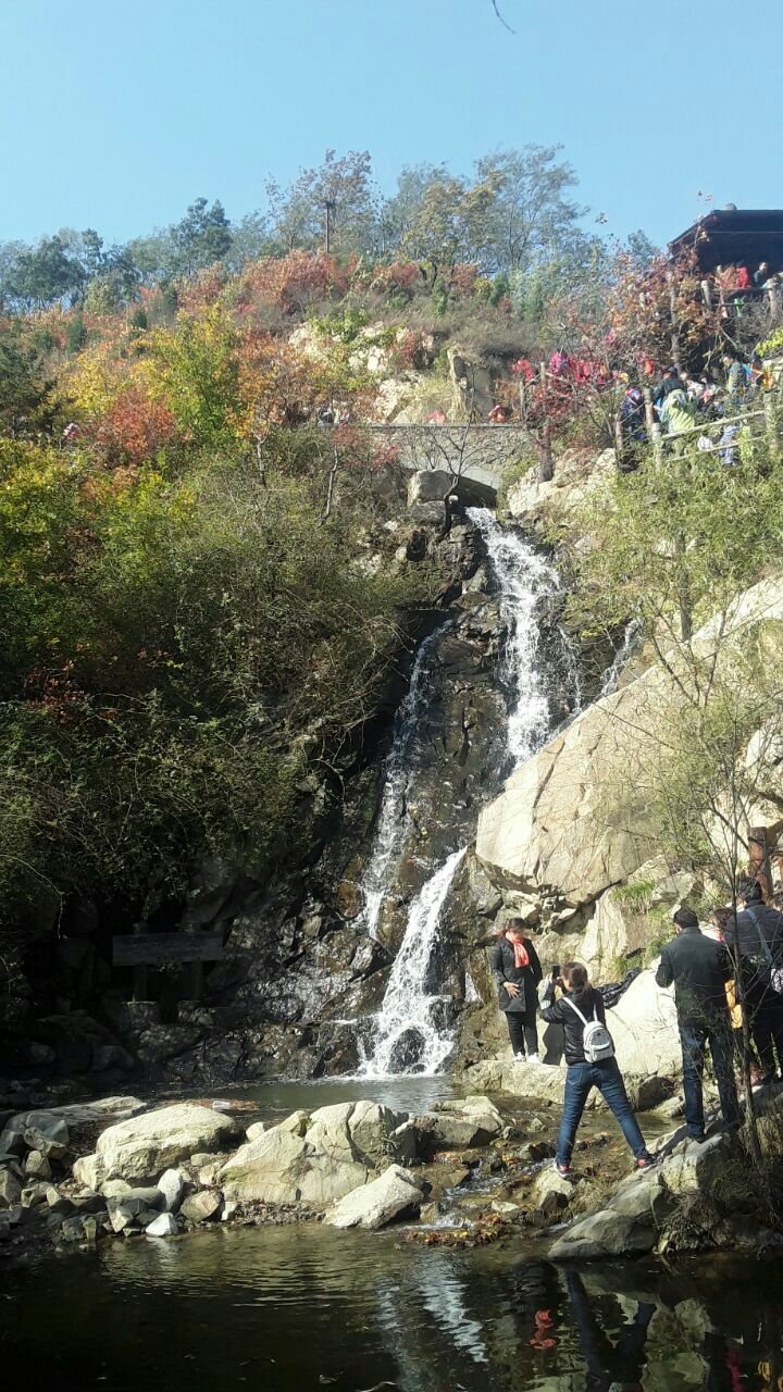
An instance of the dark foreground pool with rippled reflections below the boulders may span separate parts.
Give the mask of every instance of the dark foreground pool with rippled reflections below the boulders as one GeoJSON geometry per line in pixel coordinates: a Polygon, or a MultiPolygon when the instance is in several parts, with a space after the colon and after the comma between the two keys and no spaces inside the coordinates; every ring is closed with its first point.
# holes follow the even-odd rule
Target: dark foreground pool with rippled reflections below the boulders
{"type": "Polygon", "coordinates": [[[220,1229],[6,1274],[0,1366],[53,1392],[783,1392],[780,1293],[773,1264],[726,1258],[563,1271],[518,1247],[220,1229]]]}

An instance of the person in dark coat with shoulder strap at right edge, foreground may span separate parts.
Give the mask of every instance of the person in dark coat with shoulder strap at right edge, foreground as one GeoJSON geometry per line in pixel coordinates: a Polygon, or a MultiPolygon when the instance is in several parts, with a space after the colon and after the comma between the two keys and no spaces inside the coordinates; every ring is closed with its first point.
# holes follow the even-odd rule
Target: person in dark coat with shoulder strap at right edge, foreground
{"type": "Polygon", "coordinates": [[[726,923],[723,935],[743,981],[748,1026],[761,1061],[762,1083],[773,1083],[783,1068],[783,995],[772,984],[772,972],[783,966],[783,913],[763,902],[757,880],[738,885],[741,912],[726,923]]]}

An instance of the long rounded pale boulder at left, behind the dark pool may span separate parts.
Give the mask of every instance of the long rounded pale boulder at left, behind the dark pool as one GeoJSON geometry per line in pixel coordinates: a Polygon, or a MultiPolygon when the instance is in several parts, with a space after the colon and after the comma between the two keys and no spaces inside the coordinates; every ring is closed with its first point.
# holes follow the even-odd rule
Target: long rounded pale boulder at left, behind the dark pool
{"type": "Polygon", "coordinates": [[[74,1176],[91,1189],[111,1178],[157,1179],[194,1153],[219,1151],[241,1134],[233,1116],[177,1102],[109,1126],[98,1137],[95,1155],[77,1161],[74,1176]]]}

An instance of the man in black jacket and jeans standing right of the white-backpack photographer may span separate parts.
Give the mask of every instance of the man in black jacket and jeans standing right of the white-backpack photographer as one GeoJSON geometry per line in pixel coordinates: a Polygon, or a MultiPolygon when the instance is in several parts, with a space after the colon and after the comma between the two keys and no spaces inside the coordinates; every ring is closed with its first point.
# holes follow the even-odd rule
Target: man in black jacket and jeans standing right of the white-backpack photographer
{"type": "Polygon", "coordinates": [[[726,1125],[740,1125],[740,1102],[734,1082],[731,1020],[726,981],[734,974],[722,942],[708,938],[699,928],[692,909],[674,915],[677,937],[660,954],[655,980],[674,984],[680,1044],[683,1047],[683,1090],[688,1136],[704,1140],[704,1055],[709,1044],[720,1111],[726,1125]]]}

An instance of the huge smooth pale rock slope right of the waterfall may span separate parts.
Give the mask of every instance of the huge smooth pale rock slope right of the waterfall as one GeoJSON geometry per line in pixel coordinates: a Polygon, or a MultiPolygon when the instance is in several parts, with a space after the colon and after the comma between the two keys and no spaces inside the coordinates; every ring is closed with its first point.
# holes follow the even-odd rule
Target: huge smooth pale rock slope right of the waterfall
{"type": "MultiPolygon", "coordinates": [[[[763,626],[769,658],[782,651],[783,576],[761,580],[692,639],[698,657],[716,657],[730,679],[733,654],[763,626]]],[[[673,670],[690,681],[676,653],[673,670]]],[[[514,770],[479,816],[476,855],[509,888],[553,889],[567,909],[592,905],[627,881],[658,851],[649,809],[651,770],[660,760],[659,724],[687,699],[662,665],[606,696],[514,770]]]]}

